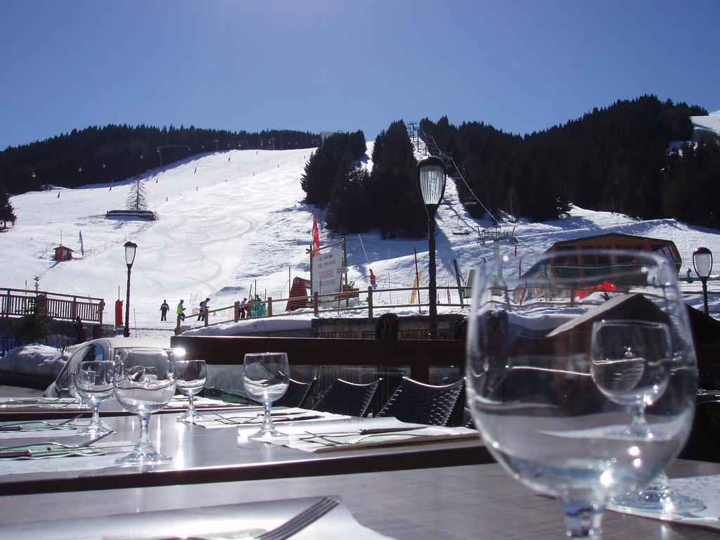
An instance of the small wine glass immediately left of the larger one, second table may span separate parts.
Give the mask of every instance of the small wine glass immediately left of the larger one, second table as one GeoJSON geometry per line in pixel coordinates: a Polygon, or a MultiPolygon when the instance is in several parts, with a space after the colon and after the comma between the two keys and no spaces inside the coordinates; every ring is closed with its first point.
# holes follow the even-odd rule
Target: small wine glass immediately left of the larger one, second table
{"type": "Polygon", "coordinates": [[[81,434],[99,436],[112,431],[100,421],[100,405],[112,397],[113,373],[114,362],[111,360],[89,360],[81,361],[76,372],[71,374],[78,396],[92,408],[92,419],[81,434]]]}

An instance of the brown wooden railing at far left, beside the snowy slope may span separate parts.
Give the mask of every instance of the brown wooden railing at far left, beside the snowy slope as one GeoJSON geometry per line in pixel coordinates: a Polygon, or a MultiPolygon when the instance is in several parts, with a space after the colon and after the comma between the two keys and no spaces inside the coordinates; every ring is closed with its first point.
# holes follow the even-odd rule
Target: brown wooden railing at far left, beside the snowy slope
{"type": "Polygon", "coordinates": [[[0,289],[0,317],[22,317],[39,308],[55,320],[75,320],[102,325],[102,298],[80,297],[57,292],[0,289]]]}

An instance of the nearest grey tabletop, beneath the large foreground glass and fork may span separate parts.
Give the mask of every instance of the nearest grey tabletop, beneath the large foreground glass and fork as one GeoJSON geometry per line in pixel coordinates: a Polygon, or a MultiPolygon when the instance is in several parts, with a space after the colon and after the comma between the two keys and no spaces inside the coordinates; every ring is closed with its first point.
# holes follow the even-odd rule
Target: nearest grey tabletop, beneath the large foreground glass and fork
{"type": "MultiPolygon", "coordinates": [[[[714,479],[720,474],[720,464],[677,460],[668,474],[673,479],[714,479]]],[[[233,526],[261,531],[323,497],[335,498],[340,504],[292,539],[565,538],[557,501],[516,482],[498,464],[469,464],[245,482],[4,495],[0,497],[0,539],[161,539],[183,538],[188,534],[231,538],[230,534],[215,536],[211,532],[233,526]]],[[[680,521],[661,518],[606,511],[603,539],[718,537],[719,529],[698,524],[691,518],[680,521]]]]}

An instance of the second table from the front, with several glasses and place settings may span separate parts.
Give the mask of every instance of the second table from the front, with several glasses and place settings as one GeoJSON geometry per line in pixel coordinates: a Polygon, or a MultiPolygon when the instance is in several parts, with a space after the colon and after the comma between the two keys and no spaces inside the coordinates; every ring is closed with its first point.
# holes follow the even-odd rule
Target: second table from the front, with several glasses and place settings
{"type": "MultiPolygon", "coordinates": [[[[73,423],[52,428],[61,423],[58,419],[44,423],[0,422],[0,493],[199,485],[493,461],[477,432],[467,428],[436,428],[400,423],[394,418],[353,418],[273,408],[277,428],[294,436],[288,436],[287,443],[271,444],[248,437],[260,427],[259,407],[200,413],[204,420],[198,423],[179,421],[179,413],[151,415],[150,441],[162,454],[171,456],[171,461],[131,466],[117,465],[115,460],[128,454],[138,438],[139,421],[135,416],[101,414],[104,425],[113,431],[109,436],[86,449],[57,457],[50,455],[52,452],[45,455],[42,445],[57,442],[73,446],[89,441],[90,436],[81,435],[80,429],[88,420],[72,420],[78,424],[74,430],[68,429],[73,423]],[[12,431],[17,425],[27,427],[27,433],[12,431]],[[11,453],[4,454],[9,447],[11,453]],[[12,447],[15,451],[40,452],[4,459],[3,455],[14,455],[12,447]],[[85,450],[88,454],[83,453],[85,450]]],[[[53,452],[56,450],[53,447],[53,452]]]]}

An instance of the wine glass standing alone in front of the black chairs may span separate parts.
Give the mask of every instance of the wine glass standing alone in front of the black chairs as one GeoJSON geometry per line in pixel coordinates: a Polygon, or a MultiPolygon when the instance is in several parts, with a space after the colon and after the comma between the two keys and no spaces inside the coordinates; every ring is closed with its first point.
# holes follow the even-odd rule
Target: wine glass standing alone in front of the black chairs
{"type": "Polygon", "coordinates": [[[279,400],[287,391],[289,384],[289,364],[285,353],[251,353],[243,360],[245,374],[243,385],[247,394],[264,407],[265,415],[260,431],[249,435],[250,438],[269,440],[284,436],[276,431],[272,422],[270,408],[272,402],[279,400]]]}

